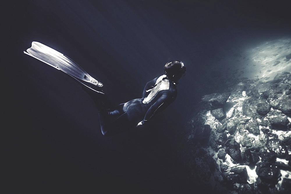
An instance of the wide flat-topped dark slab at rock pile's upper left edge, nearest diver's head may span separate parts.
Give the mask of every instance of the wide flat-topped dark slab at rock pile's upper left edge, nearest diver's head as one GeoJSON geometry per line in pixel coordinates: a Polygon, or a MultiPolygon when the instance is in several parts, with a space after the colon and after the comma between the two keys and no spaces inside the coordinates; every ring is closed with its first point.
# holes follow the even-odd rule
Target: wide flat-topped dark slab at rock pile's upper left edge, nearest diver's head
{"type": "Polygon", "coordinates": [[[203,96],[201,100],[202,103],[206,105],[206,107],[209,107],[210,109],[215,109],[221,108],[226,103],[229,96],[229,93],[214,93],[203,96]]]}

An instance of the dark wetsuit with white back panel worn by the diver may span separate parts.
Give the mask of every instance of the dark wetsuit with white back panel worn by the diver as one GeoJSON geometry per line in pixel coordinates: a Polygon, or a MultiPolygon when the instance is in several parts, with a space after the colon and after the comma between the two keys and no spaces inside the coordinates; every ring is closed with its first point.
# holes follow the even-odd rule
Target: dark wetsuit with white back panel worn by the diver
{"type": "Polygon", "coordinates": [[[176,87],[166,75],[162,75],[145,85],[142,98],[130,100],[113,109],[99,109],[102,134],[113,135],[128,130],[140,121],[146,123],[175,100],[176,87]],[[154,87],[150,90],[151,86],[154,87]]]}

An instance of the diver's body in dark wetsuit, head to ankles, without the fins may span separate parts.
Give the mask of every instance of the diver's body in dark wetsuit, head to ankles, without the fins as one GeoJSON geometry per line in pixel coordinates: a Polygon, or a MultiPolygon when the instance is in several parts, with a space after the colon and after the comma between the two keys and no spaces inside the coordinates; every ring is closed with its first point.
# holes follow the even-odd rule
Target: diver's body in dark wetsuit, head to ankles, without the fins
{"type": "MultiPolygon", "coordinates": [[[[165,75],[145,85],[142,98],[107,109],[106,100],[96,97],[92,90],[83,88],[97,105],[102,134],[111,136],[133,126],[145,125],[157,112],[164,110],[177,96],[177,85],[185,75],[186,67],[180,61],[171,61],[164,66],[165,75]]],[[[97,94],[100,96],[100,94],[97,94]]],[[[104,96],[104,95],[103,95],[104,96]]]]}

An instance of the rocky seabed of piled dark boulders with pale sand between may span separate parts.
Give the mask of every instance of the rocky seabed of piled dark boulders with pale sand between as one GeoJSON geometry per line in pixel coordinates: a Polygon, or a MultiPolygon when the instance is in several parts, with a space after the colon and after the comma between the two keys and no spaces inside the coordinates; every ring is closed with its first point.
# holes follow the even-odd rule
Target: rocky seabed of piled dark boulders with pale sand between
{"type": "Polygon", "coordinates": [[[291,193],[291,74],[252,83],[203,96],[187,135],[195,169],[218,192],[291,193]]]}

